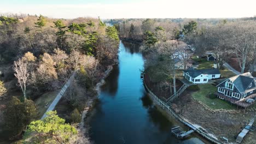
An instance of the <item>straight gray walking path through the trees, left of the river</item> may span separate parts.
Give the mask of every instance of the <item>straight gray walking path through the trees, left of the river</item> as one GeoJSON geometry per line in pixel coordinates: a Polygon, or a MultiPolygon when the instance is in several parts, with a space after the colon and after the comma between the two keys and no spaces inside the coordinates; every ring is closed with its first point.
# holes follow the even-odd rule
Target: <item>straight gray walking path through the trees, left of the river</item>
{"type": "Polygon", "coordinates": [[[74,79],[75,72],[69,77],[68,81],[65,83],[65,85],[61,88],[61,91],[57,94],[57,97],[54,99],[53,103],[48,107],[48,109],[45,111],[43,118],[46,117],[46,113],[48,111],[53,111],[55,109],[55,106],[59,103],[60,99],[62,98],[63,94],[66,92],[67,88],[70,86],[71,81],[74,79]]]}

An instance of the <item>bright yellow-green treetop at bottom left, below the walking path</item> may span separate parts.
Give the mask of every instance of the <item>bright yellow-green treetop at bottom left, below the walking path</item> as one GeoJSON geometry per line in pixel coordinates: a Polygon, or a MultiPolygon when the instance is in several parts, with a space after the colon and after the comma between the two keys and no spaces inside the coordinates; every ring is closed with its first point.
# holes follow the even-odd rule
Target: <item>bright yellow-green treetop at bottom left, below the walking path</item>
{"type": "Polygon", "coordinates": [[[24,137],[25,143],[69,143],[72,136],[78,134],[77,129],[66,124],[65,119],[57,116],[56,111],[49,111],[46,115],[44,119],[33,121],[28,125],[24,137]]]}

